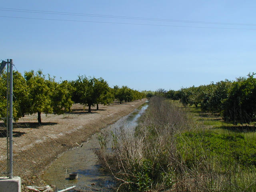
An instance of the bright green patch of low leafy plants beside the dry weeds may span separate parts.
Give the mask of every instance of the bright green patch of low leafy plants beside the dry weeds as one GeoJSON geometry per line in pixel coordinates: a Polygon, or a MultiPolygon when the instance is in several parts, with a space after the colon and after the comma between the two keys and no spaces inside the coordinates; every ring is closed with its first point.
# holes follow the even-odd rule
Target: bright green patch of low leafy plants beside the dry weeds
{"type": "Polygon", "coordinates": [[[207,158],[214,158],[222,171],[226,169],[224,165],[237,164],[243,168],[256,166],[256,140],[242,133],[216,133],[211,130],[185,132],[177,137],[177,143],[177,149],[187,166],[207,158]]]}

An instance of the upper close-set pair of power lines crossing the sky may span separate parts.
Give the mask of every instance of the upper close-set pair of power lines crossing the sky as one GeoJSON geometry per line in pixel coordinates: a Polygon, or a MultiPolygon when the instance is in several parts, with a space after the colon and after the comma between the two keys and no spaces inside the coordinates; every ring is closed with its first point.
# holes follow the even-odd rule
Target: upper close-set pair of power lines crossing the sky
{"type": "Polygon", "coordinates": [[[116,15],[103,15],[103,14],[87,14],[87,13],[74,13],[74,12],[58,12],[58,11],[44,11],[44,10],[3,8],[3,7],[0,7],[0,9],[1,9],[1,11],[9,11],[9,12],[28,12],[28,13],[40,13],[40,14],[89,16],[89,17],[100,17],[100,18],[151,20],[151,21],[162,21],[162,22],[185,22],[185,23],[198,23],[198,24],[220,24],[220,25],[256,26],[256,24],[248,24],[248,23],[207,22],[207,21],[195,21],[195,20],[174,20],[174,19],[160,19],[160,18],[148,18],[148,17],[116,16],[116,15]],[[5,9],[5,10],[3,10],[3,9],[5,9]]]}

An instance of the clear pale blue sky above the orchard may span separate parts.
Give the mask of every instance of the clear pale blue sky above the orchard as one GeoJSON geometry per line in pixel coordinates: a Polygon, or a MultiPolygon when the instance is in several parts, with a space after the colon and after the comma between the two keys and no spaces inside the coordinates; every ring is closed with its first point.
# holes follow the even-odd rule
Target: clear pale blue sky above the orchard
{"type": "Polygon", "coordinates": [[[0,60],[12,58],[22,73],[42,69],[57,80],[85,74],[102,77],[110,86],[178,90],[256,72],[255,1],[0,2],[0,16],[7,16],[0,17],[0,60]],[[55,14],[20,12],[24,10],[55,14]]]}

